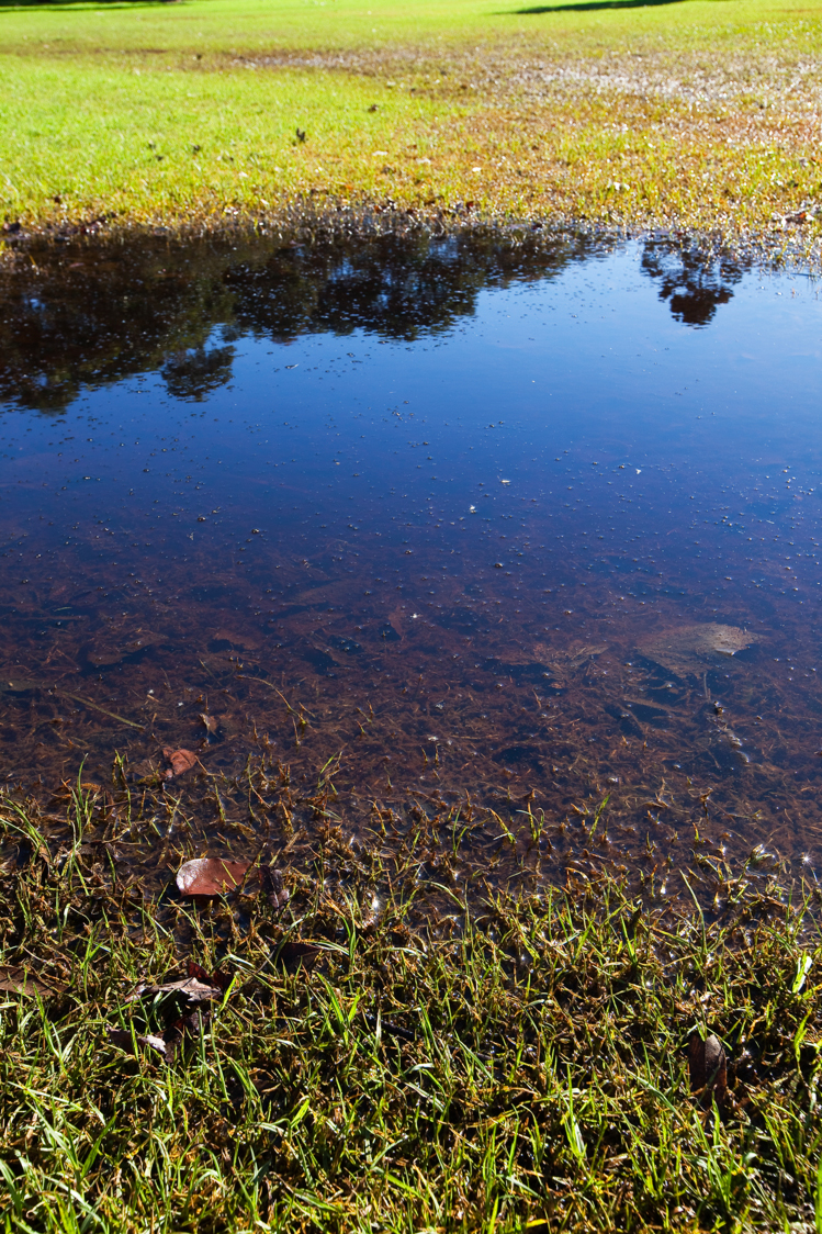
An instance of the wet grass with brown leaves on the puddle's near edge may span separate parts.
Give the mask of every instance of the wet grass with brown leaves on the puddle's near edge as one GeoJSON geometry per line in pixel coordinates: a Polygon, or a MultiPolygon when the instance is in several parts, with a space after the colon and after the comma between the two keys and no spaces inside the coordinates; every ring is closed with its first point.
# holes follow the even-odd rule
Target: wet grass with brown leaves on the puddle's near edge
{"type": "Polygon", "coordinates": [[[321,844],[279,917],[191,907],[118,881],[93,810],[78,787],[49,845],[2,808],[4,986],[60,990],[0,1006],[5,1229],[818,1228],[813,896],[741,882],[708,919],[599,879],[432,913],[412,855],[375,900],[321,844]],[[210,1022],[172,1062],[111,1044],[162,1030],[126,997],[185,958],[233,976],[210,1022]],[[694,1033],[727,1050],[720,1106],[694,1033]]]}

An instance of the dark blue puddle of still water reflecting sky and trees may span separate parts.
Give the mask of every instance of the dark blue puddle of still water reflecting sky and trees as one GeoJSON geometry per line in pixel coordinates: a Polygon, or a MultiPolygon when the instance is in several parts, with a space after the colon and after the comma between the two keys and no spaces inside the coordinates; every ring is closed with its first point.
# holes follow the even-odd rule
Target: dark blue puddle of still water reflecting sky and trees
{"type": "Polygon", "coordinates": [[[505,828],[520,871],[658,890],[755,845],[816,868],[810,278],[574,236],[31,265],[0,291],[10,785],[120,755],[138,795],[194,750],[170,868],[288,839],[284,786],[346,835],[459,805],[489,868],[505,828]]]}

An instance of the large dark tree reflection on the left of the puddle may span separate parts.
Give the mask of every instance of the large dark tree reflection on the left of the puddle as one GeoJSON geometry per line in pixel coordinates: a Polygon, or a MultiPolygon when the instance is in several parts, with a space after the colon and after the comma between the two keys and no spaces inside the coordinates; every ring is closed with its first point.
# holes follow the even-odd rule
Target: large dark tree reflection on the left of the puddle
{"type": "Polygon", "coordinates": [[[231,379],[232,353],[206,348],[218,327],[273,342],[357,329],[413,339],[470,316],[483,288],[547,278],[594,249],[586,236],[489,232],[39,252],[0,283],[0,399],[57,411],[158,368],[174,397],[200,399],[231,379]]]}

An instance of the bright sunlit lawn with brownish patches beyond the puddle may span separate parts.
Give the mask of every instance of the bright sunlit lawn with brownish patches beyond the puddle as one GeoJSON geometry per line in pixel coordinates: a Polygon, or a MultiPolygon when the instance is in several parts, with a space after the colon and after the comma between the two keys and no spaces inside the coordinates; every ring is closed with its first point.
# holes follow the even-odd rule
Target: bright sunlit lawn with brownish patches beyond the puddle
{"type": "Polygon", "coordinates": [[[765,234],[816,197],[818,0],[523,7],[0,7],[0,215],[214,227],[309,197],[470,201],[765,234]]]}

